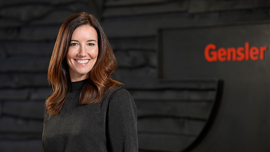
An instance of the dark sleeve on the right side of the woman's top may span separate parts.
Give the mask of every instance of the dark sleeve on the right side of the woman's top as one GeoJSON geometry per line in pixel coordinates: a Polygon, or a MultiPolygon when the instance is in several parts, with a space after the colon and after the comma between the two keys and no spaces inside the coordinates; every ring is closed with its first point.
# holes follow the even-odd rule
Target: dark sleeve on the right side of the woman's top
{"type": "Polygon", "coordinates": [[[137,108],[124,88],[114,92],[110,98],[107,119],[107,137],[111,151],[138,151],[137,108]]]}

